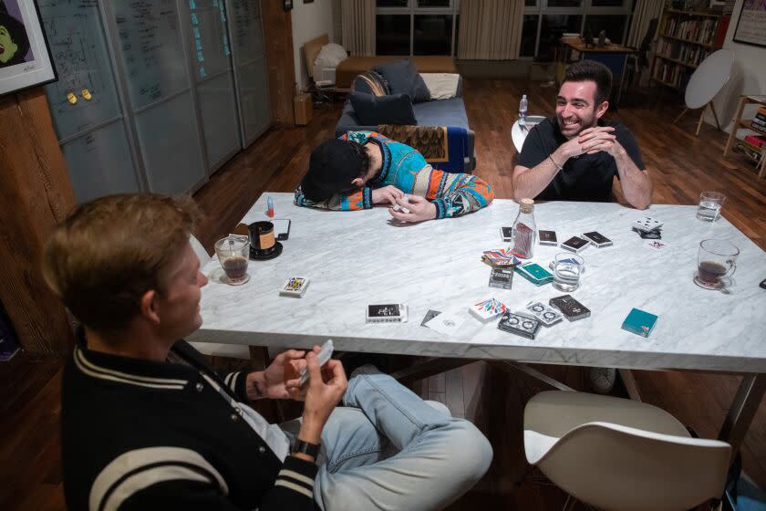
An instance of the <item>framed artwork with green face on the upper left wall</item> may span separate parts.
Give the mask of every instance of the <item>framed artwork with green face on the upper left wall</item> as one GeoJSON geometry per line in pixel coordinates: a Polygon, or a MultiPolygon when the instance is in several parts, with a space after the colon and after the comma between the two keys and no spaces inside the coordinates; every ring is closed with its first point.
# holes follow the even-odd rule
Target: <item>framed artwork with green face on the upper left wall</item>
{"type": "Polygon", "coordinates": [[[0,95],[56,79],[35,0],[0,0],[0,95]]]}

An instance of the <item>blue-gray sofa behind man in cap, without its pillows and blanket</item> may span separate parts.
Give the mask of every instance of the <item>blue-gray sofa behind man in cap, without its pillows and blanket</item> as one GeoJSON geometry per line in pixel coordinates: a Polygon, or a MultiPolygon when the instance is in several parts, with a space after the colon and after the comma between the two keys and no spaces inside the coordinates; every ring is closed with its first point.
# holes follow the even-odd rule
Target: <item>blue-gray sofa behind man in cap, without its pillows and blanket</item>
{"type": "MultiPolygon", "coordinates": [[[[473,153],[475,134],[469,128],[468,116],[465,112],[465,104],[462,99],[462,77],[458,83],[457,97],[450,99],[433,99],[413,103],[412,111],[419,126],[450,126],[466,130],[465,170],[472,171],[476,168],[476,158],[473,153]]],[[[358,119],[351,101],[347,100],[343,107],[343,113],[336,124],[336,136],[339,137],[347,131],[374,131],[377,126],[365,126],[358,119]]]]}

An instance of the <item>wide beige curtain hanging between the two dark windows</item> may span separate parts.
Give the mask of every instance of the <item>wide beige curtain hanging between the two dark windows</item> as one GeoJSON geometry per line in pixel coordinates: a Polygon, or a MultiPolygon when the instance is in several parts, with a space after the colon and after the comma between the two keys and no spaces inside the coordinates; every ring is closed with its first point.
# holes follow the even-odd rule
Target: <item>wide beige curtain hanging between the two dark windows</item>
{"type": "Polygon", "coordinates": [[[522,46],[524,0],[462,0],[457,57],[512,60],[522,46]]]}

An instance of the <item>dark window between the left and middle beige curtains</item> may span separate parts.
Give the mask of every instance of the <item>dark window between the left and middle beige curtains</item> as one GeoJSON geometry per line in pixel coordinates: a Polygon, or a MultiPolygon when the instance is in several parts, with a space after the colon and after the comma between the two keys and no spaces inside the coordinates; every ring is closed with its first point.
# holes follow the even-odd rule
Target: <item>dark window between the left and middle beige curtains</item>
{"type": "Polygon", "coordinates": [[[377,0],[378,55],[454,55],[458,0],[377,0]]]}

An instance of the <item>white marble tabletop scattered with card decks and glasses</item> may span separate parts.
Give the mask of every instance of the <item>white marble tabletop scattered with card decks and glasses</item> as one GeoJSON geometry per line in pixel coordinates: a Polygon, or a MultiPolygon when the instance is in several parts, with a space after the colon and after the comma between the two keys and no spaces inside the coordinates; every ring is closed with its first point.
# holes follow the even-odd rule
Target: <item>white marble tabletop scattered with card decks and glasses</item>
{"type": "MultiPolygon", "coordinates": [[[[528,362],[603,365],[644,369],[766,372],[766,253],[720,219],[697,220],[696,205],[653,205],[646,212],[616,203],[541,203],[538,228],[554,229],[559,241],[597,230],[614,246],[588,247],[587,267],[573,296],[592,316],[541,328],[524,339],[481,324],[467,308],[496,297],[511,310],[530,300],[562,295],[551,285],[534,287],[514,276],[511,290],[487,286],[490,267],[483,250],[502,247],[500,227],[512,224],[513,201],[423,224],[393,224],[386,209],[326,212],[293,205],[292,193],[274,197],[277,218],[293,221],[285,250],[272,261],[251,261],[243,286],[220,282],[215,258],[203,267],[212,276],[202,289],[204,324],[192,340],[250,345],[307,347],[327,338],[336,349],[425,356],[510,359],[528,362]],[[670,246],[655,253],[630,230],[645,214],[664,222],[670,246]],[[722,238],[740,247],[738,269],[728,294],[692,282],[699,242],[722,238]],[[290,276],[308,276],[303,298],[280,297],[290,276]],[[367,304],[403,302],[404,324],[366,324],[367,304]],[[646,339],[620,328],[631,308],[657,314],[646,339]],[[420,326],[428,309],[458,310],[469,319],[454,337],[420,326]]],[[[245,223],[265,218],[261,196],[245,223]]],[[[726,209],[723,210],[724,215],[726,209]]],[[[547,266],[558,247],[538,246],[533,258],[547,266]]]]}

